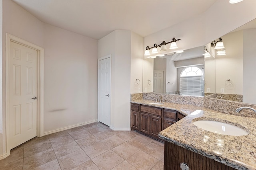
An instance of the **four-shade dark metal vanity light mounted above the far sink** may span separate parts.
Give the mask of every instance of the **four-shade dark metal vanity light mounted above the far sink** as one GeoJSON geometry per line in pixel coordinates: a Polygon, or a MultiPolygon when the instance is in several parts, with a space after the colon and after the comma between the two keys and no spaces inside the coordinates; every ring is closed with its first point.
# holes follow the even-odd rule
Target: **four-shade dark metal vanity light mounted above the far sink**
{"type": "Polygon", "coordinates": [[[152,54],[157,54],[157,53],[158,53],[157,47],[161,47],[160,51],[166,51],[166,50],[167,50],[166,44],[169,44],[169,43],[171,43],[170,49],[176,49],[176,48],[178,48],[176,41],[180,41],[180,39],[175,39],[175,38],[173,37],[173,38],[172,38],[172,41],[170,41],[170,42],[168,42],[168,43],[166,43],[165,41],[163,41],[163,42],[162,42],[161,44],[159,44],[159,45],[154,44],[154,47],[149,47],[149,46],[147,46],[144,55],[145,55],[145,56],[150,55],[150,51],[149,51],[150,49],[152,49],[152,52],[151,52],[152,54]]]}

